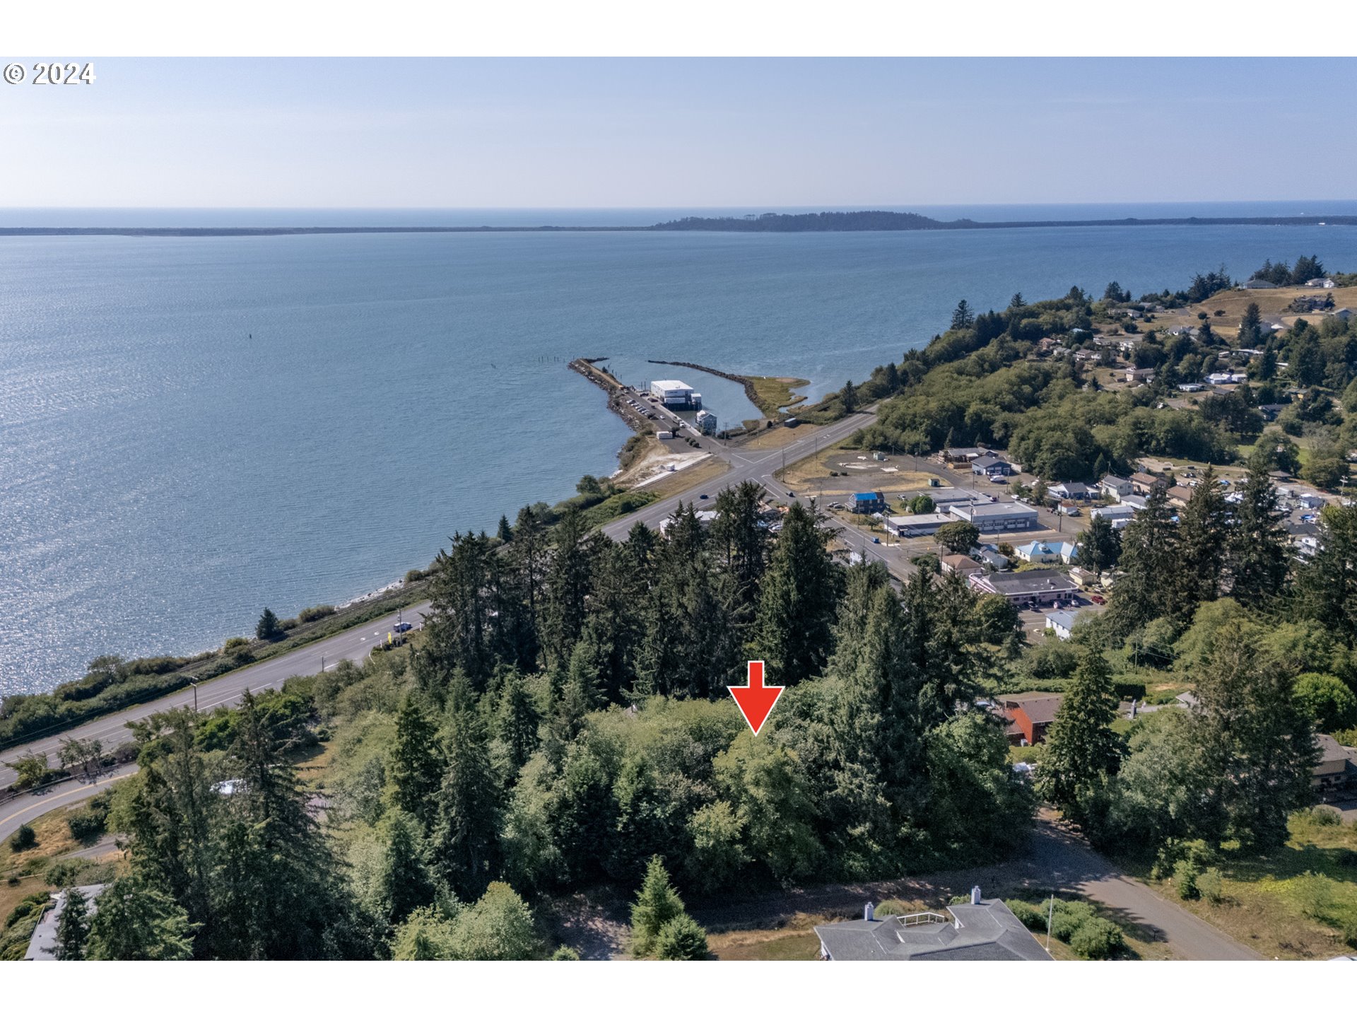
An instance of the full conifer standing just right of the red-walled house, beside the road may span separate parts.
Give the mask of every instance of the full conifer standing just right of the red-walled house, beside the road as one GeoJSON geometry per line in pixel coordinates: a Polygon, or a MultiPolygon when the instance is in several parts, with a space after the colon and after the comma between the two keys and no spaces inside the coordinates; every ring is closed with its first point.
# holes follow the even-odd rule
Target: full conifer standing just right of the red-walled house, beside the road
{"type": "Polygon", "coordinates": [[[1037,782],[1042,798],[1079,820],[1090,818],[1091,801],[1121,763],[1121,737],[1111,730],[1117,703],[1111,669],[1102,654],[1087,652],[1046,733],[1037,782]]]}

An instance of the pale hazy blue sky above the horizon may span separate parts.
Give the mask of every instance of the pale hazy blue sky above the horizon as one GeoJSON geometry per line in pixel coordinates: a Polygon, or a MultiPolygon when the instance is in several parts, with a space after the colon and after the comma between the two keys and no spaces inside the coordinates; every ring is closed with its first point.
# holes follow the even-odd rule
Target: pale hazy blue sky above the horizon
{"type": "Polygon", "coordinates": [[[0,206],[1357,197],[1357,134],[1342,114],[1353,60],[96,60],[95,71],[91,86],[0,86],[0,206]]]}

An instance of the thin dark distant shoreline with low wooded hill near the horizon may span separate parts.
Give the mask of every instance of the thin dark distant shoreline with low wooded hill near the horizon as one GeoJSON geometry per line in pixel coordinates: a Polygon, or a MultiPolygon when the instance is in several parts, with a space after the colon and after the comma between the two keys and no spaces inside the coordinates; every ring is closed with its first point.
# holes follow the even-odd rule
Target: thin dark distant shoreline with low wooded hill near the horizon
{"type": "Polygon", "coordinates": [[[1181,219],[936,220],[913,212],[764,213],[624,225],[540,227],[0,227],[0,236],[308,236],[330,233],[863,233],[1034,227],[1357,227],[1357,216],[1187,216],[1181,219]]]}

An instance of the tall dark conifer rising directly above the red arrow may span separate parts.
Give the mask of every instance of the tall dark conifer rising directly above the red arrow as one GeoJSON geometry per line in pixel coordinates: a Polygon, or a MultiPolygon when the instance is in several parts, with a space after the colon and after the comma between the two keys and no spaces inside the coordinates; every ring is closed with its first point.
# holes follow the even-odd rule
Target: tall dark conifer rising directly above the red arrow
{"type": "Polygon", "coordinates": [[[814,514],[792,502],[764,574],[753,638],[753,656],[779,685],[818,675],[828,660],[840,582],[828,539],[814,514]]]}

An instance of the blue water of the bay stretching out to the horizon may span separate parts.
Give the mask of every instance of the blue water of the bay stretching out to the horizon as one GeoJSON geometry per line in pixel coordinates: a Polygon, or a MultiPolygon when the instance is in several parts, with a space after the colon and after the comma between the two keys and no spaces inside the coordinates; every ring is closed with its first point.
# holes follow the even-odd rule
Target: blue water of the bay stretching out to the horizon
{"type": "MultiPolygon", "coordinates": [[[[1113,208],[1087,214],[1163,214],[1113,208]]],[[[129,214],[103,221],[167,221],[129,214]]],[[[1140,293],[1303,252],[1350,270],[1357,229],[0,239],[0,692],[347,600],[611,472],[628,432],[573,357],[677,375],[735,422],[738,387],[646,358],[797,375],[814,398],[927,342],[962,297],[1140,293]]]]}

